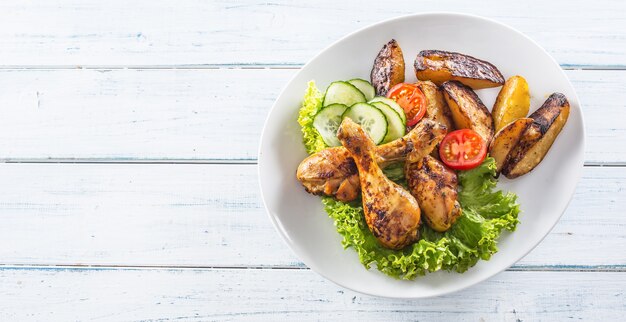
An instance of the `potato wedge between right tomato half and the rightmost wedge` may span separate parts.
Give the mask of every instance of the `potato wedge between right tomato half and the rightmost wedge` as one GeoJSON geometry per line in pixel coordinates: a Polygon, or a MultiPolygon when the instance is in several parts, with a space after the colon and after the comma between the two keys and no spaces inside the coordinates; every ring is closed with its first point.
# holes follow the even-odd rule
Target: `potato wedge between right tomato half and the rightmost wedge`
{"type": "Polygon", "coordinates": [[[507,124],[493,136],[493,141],[491,141],[491,145],[489,145],[489,155],[496,160],[496,171],[498,175],[509,153],[520,141],[522,135],[532,122],[533,119],[527,117],[517,119],[507,124]]]}

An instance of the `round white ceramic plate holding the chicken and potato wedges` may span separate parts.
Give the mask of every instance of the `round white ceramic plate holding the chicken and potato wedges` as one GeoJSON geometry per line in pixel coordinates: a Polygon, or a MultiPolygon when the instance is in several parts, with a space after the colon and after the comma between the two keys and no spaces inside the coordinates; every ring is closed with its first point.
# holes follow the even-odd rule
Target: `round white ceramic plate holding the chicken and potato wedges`
{"type": "MultiPolygon", "coordinates": [[[[477,91],[493,106],[499,88],[477,91]]],[[[464,14],[427,13],[388,20],[344,37],[313,58],[287,84],[269,113],[259,150],[259,180],[265,207],[276,229],[311,269],[352,290],[386,297],[421,298],[454,292],[510,267],[530,252],[557,223],[574,193],[583,166],[584,126],[578,97],[556,63],[535,42],[500,23],[464,14]],[[420,50],[465,53],[496,65],[505,78],[519,74],[531,92],[531,112],[553,92],[567,96],[569,120],[546,158],[531,173],[500,179],[499,188],[519,196],[521,224],[504,232],[500,251],[469,271],[436,272],[414,281],[395,280],[375,268],[366,270],[322,208],[319,197],[307,194],[296,180],[306,156],[296,119],[306,84],[320,90],[335,80],[369,79],[374,57],[395,38],[406,62],[406,81],[415,80],[413,60],[420,50]]]]}

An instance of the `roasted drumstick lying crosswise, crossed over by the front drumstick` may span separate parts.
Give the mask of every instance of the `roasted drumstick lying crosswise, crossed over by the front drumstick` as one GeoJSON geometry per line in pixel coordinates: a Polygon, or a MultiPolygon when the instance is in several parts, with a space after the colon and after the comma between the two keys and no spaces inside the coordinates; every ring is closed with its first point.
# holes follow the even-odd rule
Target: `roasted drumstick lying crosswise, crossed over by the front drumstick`
{"type": "MultiPolygon", "coordinates": [[[[375,147],[374,158],[381,167],[403,161],[411,155],[419,161],[446,135],[446,127],[423,119],[404,137],[375,147]]],[[[296,177],[307,192],[335,196],[341,201],[351,201],[359,196],[361,185],[354,160],[340,147],[324,149],[304,159],[298,166],[296,177]]]]}

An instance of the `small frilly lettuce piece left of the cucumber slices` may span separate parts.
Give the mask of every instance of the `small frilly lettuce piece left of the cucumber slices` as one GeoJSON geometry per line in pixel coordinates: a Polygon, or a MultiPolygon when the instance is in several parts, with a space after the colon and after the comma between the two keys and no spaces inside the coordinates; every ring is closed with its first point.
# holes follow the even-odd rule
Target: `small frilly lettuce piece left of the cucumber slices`
{"type": "Polygon", "coordinates": [[[327,147],[322,136],[313,127],[315,114],[322,109],[323,98],[324,95],[317,89],[315,82],[310,81],[298,113],[298,124],[302,127],[302,143],[304,143],[309,154],[319,152],[327,147]]]}

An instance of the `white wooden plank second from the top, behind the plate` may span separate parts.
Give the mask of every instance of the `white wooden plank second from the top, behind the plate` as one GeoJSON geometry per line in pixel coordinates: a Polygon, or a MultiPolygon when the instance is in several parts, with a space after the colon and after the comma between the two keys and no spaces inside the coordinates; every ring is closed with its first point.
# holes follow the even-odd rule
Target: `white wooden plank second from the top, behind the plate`
{"type": "MultiPolygon", "coordinates": [[[[295,72],[0,70],[0,159],[254,161],[295,72]]],[[[587,162],[623,162],[626,71],[567,74],[585,113],[587,162]]]]}

